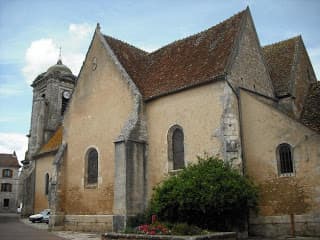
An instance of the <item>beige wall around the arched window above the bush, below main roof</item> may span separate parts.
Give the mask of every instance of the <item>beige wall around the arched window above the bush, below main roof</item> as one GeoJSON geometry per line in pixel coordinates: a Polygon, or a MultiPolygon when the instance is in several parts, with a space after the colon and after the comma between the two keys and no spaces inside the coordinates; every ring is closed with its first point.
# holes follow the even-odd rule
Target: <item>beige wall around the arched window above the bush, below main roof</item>
{"type": "MultiPolygon", "coordinates": [[[[223,154],[223,107],[225,81],[192,88],[150,101],[146,105],[148,123],[148,196],[152,188],[169,172],[169,129],[179,125],[184,133],[186,165],[197,161],[197,155],[223,154]]],[[[226,90],[227,91],[227,90],[226,90]]]]}

